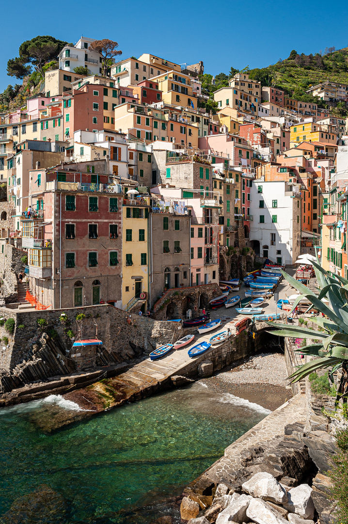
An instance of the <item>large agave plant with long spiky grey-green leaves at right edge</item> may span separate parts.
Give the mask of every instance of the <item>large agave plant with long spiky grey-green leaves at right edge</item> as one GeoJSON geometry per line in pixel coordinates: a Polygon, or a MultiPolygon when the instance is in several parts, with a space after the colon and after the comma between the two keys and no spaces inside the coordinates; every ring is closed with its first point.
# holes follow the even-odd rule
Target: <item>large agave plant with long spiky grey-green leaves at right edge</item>
{"type": "Polygon", "coordinates": [[[319,265],[318,259],[317,262],[313,261],[313,266],[319,285],[318,296],[295,278],[290,277],[284,271],[282,273],[289,284],[301,293],[295,300],[291,311],[294,311],[301,299],[306,298],[319,313],[327,317],[319,316],[311,319],[319,326],[320,331],[313,333],[312,330],[302,326],[279,325],[275,322],[267,322],[267,324],[279,329],[278,335],[318,340],[319,342],[299,350],[301,354],[317,358],[300,366],[288,378],[291,379],[291,383],[294,383],[317,369],[331,368],[329,377],[333,381],[333,374],[342,368],[337,399],[343,397],[345,402],[348,395],[348,280],[339,275],[332,277],[319,265]],[[322,299],[327,299],[327,301],[323,302],[322,299]]]}

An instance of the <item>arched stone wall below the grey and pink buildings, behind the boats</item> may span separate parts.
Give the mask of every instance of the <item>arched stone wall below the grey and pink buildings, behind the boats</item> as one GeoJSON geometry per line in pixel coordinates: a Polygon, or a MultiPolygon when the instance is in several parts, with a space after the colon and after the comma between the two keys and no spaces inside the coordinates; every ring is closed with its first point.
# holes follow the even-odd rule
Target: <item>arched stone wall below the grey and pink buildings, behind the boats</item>
{"type": "Polygon", "coordinates": [[[192,316],[198,315],[199,309],[207,308],[209,300],[221,294],[217,283],[169,289],[154,304],[153,316],[156,320],[181,319],[188,309],[192,310],[192,316]]]}

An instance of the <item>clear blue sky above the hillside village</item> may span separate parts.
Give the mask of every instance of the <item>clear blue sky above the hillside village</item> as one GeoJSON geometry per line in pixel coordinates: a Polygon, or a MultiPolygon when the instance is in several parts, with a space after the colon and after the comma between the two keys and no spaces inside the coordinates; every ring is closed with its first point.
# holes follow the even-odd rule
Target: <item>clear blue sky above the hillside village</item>
{"type": "Polygon", "coordinates": [[[287,58],[291,49],[316,53],[348,46],[348,9],[309,0],[294,4],[270,0],[177,0],[107,2],[95,0],[37,4],[3,2],[0,92],[21,83],[6,73],[7,60],[18,56],[21,42],[52,35],[76,42],[82,35],[119,43],[120,58],[144,52],[177,63],[203,60],[205,72],[228,73],[230,67],[266,67],[287,58]]]}

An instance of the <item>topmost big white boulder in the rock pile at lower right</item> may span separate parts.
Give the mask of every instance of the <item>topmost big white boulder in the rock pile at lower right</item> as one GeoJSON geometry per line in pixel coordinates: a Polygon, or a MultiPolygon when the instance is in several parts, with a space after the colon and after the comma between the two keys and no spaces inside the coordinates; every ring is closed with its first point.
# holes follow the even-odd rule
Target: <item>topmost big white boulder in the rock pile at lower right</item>
{"type": "Polygon", "coordinates": [[[270,473],[256,473],[242,484],[242,488],[253,497],[270,500],[276,504],[284,504],[288,500],[285,489],[270,473]]]}

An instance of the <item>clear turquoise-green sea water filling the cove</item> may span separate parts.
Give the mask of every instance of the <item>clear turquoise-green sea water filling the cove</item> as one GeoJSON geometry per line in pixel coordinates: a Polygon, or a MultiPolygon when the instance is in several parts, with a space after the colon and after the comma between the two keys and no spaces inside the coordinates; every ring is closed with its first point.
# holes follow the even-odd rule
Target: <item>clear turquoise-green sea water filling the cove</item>
{"type": "Polygon", "coordinates": [[[177,518],[179,506],[167,499],[268,413],[196,383],[43,434],[32,415],[47,415],[50,404],[64,409],[60,399],[0,410],[0,515],[47,484],[65,497],[69,523],[177,518]]]}

